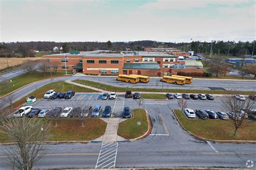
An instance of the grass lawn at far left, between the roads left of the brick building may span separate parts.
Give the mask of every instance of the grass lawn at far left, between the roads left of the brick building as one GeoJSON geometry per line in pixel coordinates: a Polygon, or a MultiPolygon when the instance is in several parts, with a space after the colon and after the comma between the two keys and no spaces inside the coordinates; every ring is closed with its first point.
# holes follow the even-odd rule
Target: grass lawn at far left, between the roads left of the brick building
{"type": "MultiPolygon", "coordinates": [[[[64,73],[52,73],[52,77],[59,77],[59,76],[64,76],[64,73]]],[[[46,73],[44,76],[44,73],[42,72],[36,72],[33,71],[29,75],[28,74],[22,74],[16,77],[13,77],[10,80],[6,80],[4,82],[0,83],[0,96],[4,96],[11,91],[14,91],[18,88],[21,88],[25,86],[26,84],[38,81],[38,80],[44,80],[44,79],[49,79],[51,77],[50,73],[46,73]]]]}

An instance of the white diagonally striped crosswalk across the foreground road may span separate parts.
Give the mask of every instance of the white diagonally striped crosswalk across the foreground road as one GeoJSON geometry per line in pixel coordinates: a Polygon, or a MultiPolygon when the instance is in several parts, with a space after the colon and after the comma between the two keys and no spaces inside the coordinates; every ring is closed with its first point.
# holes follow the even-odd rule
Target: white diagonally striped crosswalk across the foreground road
{"type": "Polygon", "coordinates": [[[114,168],[116,166],[118,143],[102,143],[95,168],[114,168]]]}

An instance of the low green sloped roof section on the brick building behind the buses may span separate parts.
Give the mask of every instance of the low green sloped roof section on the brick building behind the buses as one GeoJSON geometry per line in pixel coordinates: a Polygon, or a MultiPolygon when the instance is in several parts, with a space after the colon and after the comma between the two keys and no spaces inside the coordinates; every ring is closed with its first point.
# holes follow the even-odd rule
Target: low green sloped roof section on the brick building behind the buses
{"type": "Polygon", "coordinates": [[[157,62],[124,63],[123,69],[160,69],[157,62]]]}

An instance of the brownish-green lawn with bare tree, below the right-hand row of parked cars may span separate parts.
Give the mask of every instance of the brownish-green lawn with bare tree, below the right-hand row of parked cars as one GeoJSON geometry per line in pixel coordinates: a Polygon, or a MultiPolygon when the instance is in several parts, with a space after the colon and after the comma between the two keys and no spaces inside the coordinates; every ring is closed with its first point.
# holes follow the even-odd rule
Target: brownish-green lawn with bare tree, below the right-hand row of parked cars
{"type": "Polygon", "coordinates": [[[181,125],[188,131],[212,140],[256,140],[256,122],[239,129],[238,136],[233,136],[234,128],[230,121],[220,119],[187,119],[180,110],[174,111],[181,125]]]}

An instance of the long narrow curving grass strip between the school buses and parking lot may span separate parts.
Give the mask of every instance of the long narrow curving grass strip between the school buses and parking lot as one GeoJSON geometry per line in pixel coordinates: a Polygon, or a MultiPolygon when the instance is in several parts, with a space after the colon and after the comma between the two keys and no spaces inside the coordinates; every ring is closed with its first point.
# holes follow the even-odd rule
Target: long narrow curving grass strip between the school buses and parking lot
{"type": "MultiPolygon", "coordinates": [[[[255,91],[228,91],[228,90],[193,90],[193,89],[148,89],[148,88],[123,88],[106,84],[101,84],[88,80],[74,80],[73,82],[84,84],[86,86],[96,87],[108,91],[125,92],[125,91],[149,91],[149,92],[166,92],[166,93],[203,93],[203,94],[242,94],[250,95],[255,91]]],[[[178,85],[177,85],[178,86],[178,85]]],[[[182,88],[182,86],[180,86],[182,88]]]]}

